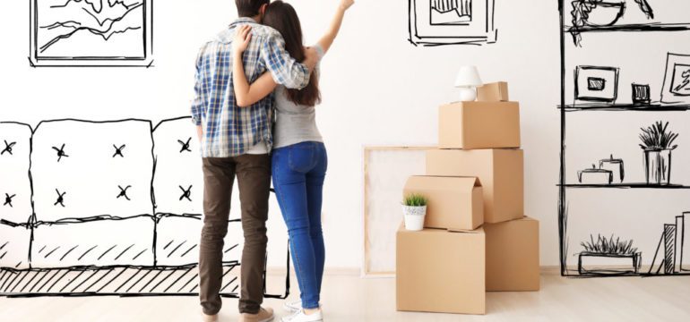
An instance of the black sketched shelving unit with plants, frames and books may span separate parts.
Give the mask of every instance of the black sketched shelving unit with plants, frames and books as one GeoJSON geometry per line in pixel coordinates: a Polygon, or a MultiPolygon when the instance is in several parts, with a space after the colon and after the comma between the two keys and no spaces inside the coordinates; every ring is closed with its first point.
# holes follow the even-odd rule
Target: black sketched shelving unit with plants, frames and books
{"type": "MultiPolygon", "coordinates": [[[[561,114],[561,148],[560,148],[560,167],[559,167],[559,197],[558,197],[558,237],[559,237],[559,253],[560,253],[560,267],[561,275],[564,276],[583,276],[583,277],[604,277],[604,276],[620,276],[620,275],[690,275],[690,247],[684,247],[685,232],[688,231],[685,227],[685,219],[688,216],[684,213],[683,216],[676,216],[675,223],[671,221],[653,229],[651,235],[646,235],[646,238],[653,238],[653,246],[648,242],[648,239],[643,244],[635,243],[633,247],[633,240],[640,241],[639,234],[631,234],[631,232],[650,233],[646,227],[635,226],[634,230],[628,226],[639,225],[637,218],[628,214],[620,208],[621,213],[611,211],[616,208],[606,208],[602,206],[599,211],[601,216],[614,216],[619,218],[625,216],[626,229],[621,227],[621,231],[625,233],[617,233],[614,224],[607,224],[605,222],[597,223],[588,217],[586,224],[583,224],[582,214],[587,211],[587,216],[596,213],[599,209],[599,204],[596,202],[583,203],[582,200],[588,200],[591,196],[601,199],[606,196],[606,193],[616,194],[617,196],[624,193],[635,194],[635,192],[625,192],[627,190],[635,191],[654,191],[655,194],[665,194],[666,191],[675,191],[675,193],[685,193],[690,191],[690,185],[674,183],[674,178],[671,177],[671,169],[682,166],[682,162],[676,161],[676,164],[671,164],[671,154],[674,149],[677,149],[678,134],[675,131],[673,122],[668,123],[665,120],[673,120],[677,114],[671,114],[666,117],[666,113],[674,112],[688,112],[690,111],[690,55],[680,55],[668,53],[668,49],[663,46],[650,47],[653,57],[665,57],[665,61],[650,60],[649,57],[638,57],[636,51],[626,52],[632,55],[634,62],[641,62],[640,64],[653,65],[651,70],[660,70],[658,75],[649,76],[647,79],[633,79],[635,75],[642,72],[640,64],[630,64],[629,62],[621,62],[626,64],[622,66],[611,65],[612,60],[610,56],[602,55],[602,53],[609,53],[608,45],[612,47],[626,47],[636,46],[637,44],[653,41],[664,40],[668,47],[674,50],[681,50],[686,42],[677,39],[676,35],[683,32],[680,36],[686,36],[686,32],[690,31],[690,21],[664,21],[664,19],[678,19],[682,15],[669,16],[668,13],[674,12],[674,8],[661,8],[661,6],[672,6],[680,4],[678,2],[668,1],[666,4],[651,0],[559,0],[559,19],[560,19],[560,54],[561,54],[561,99],[559,102],[559,109],[561,114]],[[671,32],[671,34],[669,34],[671,32]],[[597,39],[596,48],[588,48],[587,37],[597,39]],[[631,43],[631,40],[633,42],[631,43]],[[674,40],[674,41],[671,41],[674,40]],[[599,50],[599,52],[597,52],[599,50]],[[656,50],[657,52],[654,52],[656,50]],[[593,51],[593,52],[592,52],[593,51]],[[566,59],[566,57],[568,59],[566,59]],[[642,63],[643,62],[643,63],[642,63]],[[662,71],[665,71],[662,74],[662,71]],[[631,95],[626,97],[619,94],[626,90],[619,87],[620,77],[625,78],[625,86],[630,84],[631,95]],[[663,77],[663,83],[660,80],[663,77]],[[661,89],[661,90],[659,90],[661,89]],[[619,100],[624,100],[619,102],[619,100]],[[589,162],[594,162],[593,165],[587,166],[586,169],[575,165],[578,168],[574,169],[571,165],[574,160],[581,163],[582,151],[566,149],[566,134],[577,136],[579,133],[592,131],[593,129],[580,124],[573,124],[570,122],[573,113],[577,113],[574,117],[576,121],[589,124],[590,120],[599,117],[608,117],[602,114],[608,112],[616,112],[619,114],[639,113],[654,115],[651,121],[664,120],[655,123],[642,123],[634,125],[629,130],[633,135],[627,135],[627,141],[613,142],[613,147],[616,148],[616,153],[624,155],[625,153],[639,153],[642,148],[640,157],[642,160],[635,158],[629,160],[615,157],[614,154],[609,157],[591,156],[589,162]],[[658,116],[657,116],[658,115],[658,116]],[[586,116],[591,116],[590,119],[586,116]],[[657,118],[658,117],[658,118],[657,118]],[[569,122],[570,121],[570,122],[569,122]],[[642,126],[639,134],[634,132],[634,129],[642,126]],[[567,131],[566,131],[567,129],[567,131]],[[635,137],[639,138],[635,138],[635,137]],[[598,160],[598,165],[596,164],[598,160]],[[639,163],[639,166],[635,165],[639,163]],[[635,165],[631,167],[631,165],[635,165]],[[570,166],[570,167],[568,167],[570,166]],[[577,176],[574,174],[576,170],[577,176]],[[636,182],[630,182],[631,178],[635,178],[636,182]],[[638,179],[639,178],[639,179],[638,179]],[[573,190],[578,190],[574,192],[573,190]],[[577,204],[569,204],[568,197],[570,191],[576,196],[572,202],[577,204]],[[587,196],[587,197],[584,197],[587,196]],[[577,209],[575,211],[574,209],[577,209]],[[583,210],[586,209],[586,210],[583,210]],[[604,210],[607,209],[607,210],[604,210]],[[629,220],[627,220],[629,218],[629,220]],[[573,224],[575,223],[575,224],[573,224]],[[577,227],[574,232],[569,231],[569,225],[577,227]],[[614,225],[611,227],[610,225],[614,225]],[[591,227],[590,232],[582,232],[582,227],[591,227]],[[598,236],[598,231],[608,231],[606,236],[598,236]],[[574,242],[575,235],[587,233],[591,237],[589,241],[582,242],[582,240],[574,242]],[[657,233],[660,233],[660,239],[657,239],[657,233]],[[620,239],[611,235],[620,235],[620,239]],[[624,240],[625,239],[625,240],[624,240]],[[582,242],[582,243],[581,243],[582,242]],[[657,244],[658,242],[658,244],[657,244]],[[582,249],[573,247],[573,244],[580,243],[582,249]],[[638,249],[639,248],[639,249],[638,249]],[[654,256],[651,255],[656,249],[654,256]],[[643,263],[643,251],[645,252],[643,263]],[[646,265],[650,265],[648,269],[646,265]],[[643,268],[644,267],[644,268],[643,268]]],[[[685,8],[683,9],[686,10],[685,8]]],[[[676,13],[680,9],[676,10],[676,13]]],[[[593,45],[592,45],[593,46],[593,45]]],[[[686,48],[686,50],[688,50],[686,48]]],[[[616,52],[612,50],[610,52],[616,52]]],[[[644,121],[647,122],[647,121],[644,121]]],[[[613,129],[621,126],[612,126],[613,129]]],[[[597,129],[602,133],[609,131],[609,129],[597,129]]],[[[611,133],[611,138],[616,138],[615,133],[611,133]]],[[[592,141],[592,144],[599,143],[592,141]]],[[[612,144],[612,142],[606,142],[612,144]]],[[[582,146],[578,146],[582,148],[582,146]]],[[[596,147],[600,148],[600,147],[596,147]]],[[[586,159],[585,159],[585,162],[586,159]]],[[[586,164],[585,164],[586,165],[586,164]]],[[[674,173],[677,170],[674,170],[674,173]]],[[[636,194],[639,196],[639,192],[636,194]]],[[[633,197],[631,197],[633,198],[633,197]]],[[[657,201],[651,199],[651,203],[657,201]]],[[[606,200],[606,202],[625,202],[623,200],[606,200]]],[[[610,205],[608,205],[610,206],[610,205]]],[[[667,209],[672,205],[664,205],[667,209]]],[[[629,207],[629,206],[628,206],[629,207]]],[[[628,208],[629,209],[629,208],[628,208]]],[[[642,208],[641,208],[642,209],[642,208]]],[[[677,209],[678,211],[681,209],[677,209]]],[[[664,214],[655,213],[656,210],[648,211],[645,214],[635,214],[639,216],[665,216],[664,214]]],[[[668,210],[658,210],[668,211],[668,210]]]]}

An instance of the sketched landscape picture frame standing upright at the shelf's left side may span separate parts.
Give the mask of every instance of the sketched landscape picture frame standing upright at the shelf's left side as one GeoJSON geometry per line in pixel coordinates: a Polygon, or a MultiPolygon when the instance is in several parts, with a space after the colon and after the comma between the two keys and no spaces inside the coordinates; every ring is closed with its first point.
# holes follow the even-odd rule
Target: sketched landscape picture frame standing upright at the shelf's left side
{"type": "Polygon", "coordinates": [[[577,66],[575,99],[587,102],[615,103],[618,98],[616,67],[577,66]]]}

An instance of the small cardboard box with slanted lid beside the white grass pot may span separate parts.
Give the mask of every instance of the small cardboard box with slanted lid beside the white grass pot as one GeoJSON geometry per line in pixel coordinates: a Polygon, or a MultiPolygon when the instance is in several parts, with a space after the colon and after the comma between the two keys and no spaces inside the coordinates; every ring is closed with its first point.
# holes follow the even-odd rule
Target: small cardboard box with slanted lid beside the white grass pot
{"type": "Polygon", "coordinates": [[[425,227],[462,231],[484,224],[483,192],[476,177],[411,176],[403,198],[410,193],[427,198],[425,227]]]}

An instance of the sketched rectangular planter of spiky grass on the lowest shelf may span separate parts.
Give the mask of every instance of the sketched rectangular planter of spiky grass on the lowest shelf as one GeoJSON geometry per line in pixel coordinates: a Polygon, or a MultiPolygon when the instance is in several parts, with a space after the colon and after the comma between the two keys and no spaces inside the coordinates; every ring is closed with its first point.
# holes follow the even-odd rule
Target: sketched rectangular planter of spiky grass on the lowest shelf
{"type": "Polygon", "coordinates": [[[637,274],[642,265],[642,252],[633,247],[633,241],[620,238],[590,235],[590,241],[581,242],[577,269],[580,275],[625,275],[637,274]],[[605,263],[605,264],[601,264],[605,263]]]}

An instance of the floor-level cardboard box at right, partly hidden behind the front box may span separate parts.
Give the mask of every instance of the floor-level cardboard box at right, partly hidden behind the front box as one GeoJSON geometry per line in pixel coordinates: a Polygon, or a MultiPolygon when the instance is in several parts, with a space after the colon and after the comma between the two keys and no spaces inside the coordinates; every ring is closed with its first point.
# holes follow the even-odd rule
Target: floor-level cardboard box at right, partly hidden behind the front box
{"type": "Polygon", "coordinates": [[[483,228],[487,291],[539,291],[539,221],[523,217],[483,228]]]}

